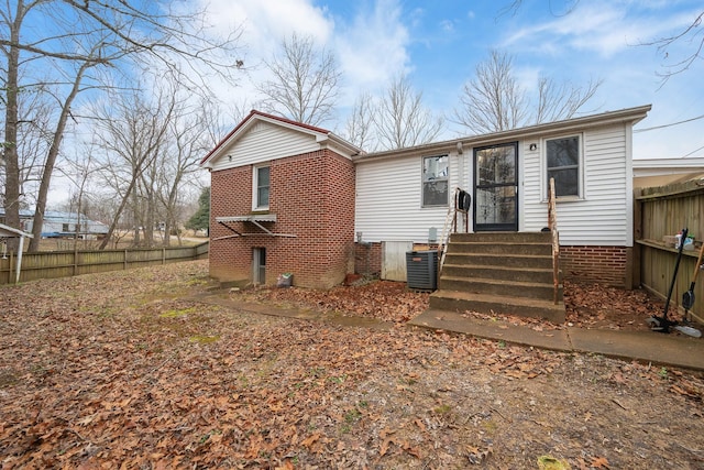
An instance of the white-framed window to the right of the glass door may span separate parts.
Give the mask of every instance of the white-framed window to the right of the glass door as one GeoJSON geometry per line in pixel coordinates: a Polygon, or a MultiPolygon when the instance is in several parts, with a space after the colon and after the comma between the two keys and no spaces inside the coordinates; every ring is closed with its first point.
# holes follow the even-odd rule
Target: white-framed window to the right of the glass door
{"type": "MultiPolygon", "coordinates": [[[[546,160],[548,163],[547,187],[550,178],[554,178],[557,197],[580,197],[580,136],[550,139],[546,141],[546,160]]],[[[546,194],[548,194],[546,192],[546,194]]]]}

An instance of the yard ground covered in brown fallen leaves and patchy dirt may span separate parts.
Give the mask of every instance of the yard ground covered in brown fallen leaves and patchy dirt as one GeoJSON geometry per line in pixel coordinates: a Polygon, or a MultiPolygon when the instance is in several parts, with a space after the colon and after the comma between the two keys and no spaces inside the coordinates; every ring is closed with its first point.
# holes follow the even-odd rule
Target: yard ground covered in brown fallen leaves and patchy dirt
{"type": "MultiPolygon", "coordinates": [[[[408,328],[427,294],[396,283],[221,294],[387,329],[209,285],[199,261],[0,287],[2,469],[704,468],[701,373],[408,328]]],[[[565,293],[582,327],[658,311],[565,293]]]]}

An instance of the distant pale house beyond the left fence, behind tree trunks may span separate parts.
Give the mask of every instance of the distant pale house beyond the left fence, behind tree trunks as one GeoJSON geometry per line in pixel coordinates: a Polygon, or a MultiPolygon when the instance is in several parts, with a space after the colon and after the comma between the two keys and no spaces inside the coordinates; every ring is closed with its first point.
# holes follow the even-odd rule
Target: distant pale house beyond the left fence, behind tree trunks
{"type": "MultiPolygon", "coordinates": [[[[4,209],[0,209],[0,220],[4,220],[4,209]]],[[[20,223],[24,230],[31,232],[34,211],[20,210],[20,223]]],[[[77,232],[76,227],[78,227],[78,236],[85,239],[95,239],[108,233],[106,223],[90,220],[82,214],[47,210],[44,212],[42,238],[74,237],[77,232]]]]}

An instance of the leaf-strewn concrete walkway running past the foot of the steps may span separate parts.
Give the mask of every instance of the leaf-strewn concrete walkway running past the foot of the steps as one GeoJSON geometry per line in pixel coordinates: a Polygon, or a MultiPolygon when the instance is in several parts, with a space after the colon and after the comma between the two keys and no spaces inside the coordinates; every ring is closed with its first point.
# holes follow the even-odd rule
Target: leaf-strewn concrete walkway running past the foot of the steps
{"type": "MultiPolygon", "coordinates": [[[[389,329],[393,324],[365,317],[322,314],[314,309],[278,308],[270,304],[242,303],[221,293],[201,294],[191,299],[261,315],[322,321],[345,327],[389,329]]],[[[477,338],[532,346],[556,351],[604,354],[613,358],[651,362],[704,371],[704,338],[653,331],[614,331],[566,327],[536,331],[529,326],[516,326],[501,320],[463,317],[446,310],[427,310],[406,325],[471,335],[477,338]]]]}

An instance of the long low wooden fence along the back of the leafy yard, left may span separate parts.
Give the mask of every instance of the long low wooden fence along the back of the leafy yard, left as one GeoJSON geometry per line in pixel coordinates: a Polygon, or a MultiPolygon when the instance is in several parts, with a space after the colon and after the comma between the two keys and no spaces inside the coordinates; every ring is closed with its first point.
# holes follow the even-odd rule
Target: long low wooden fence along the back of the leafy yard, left
{"type": "MultiPolygon", "coordinates": [[[[135,250],[46,251],[23,253],[20,282],[129,270],[208,258],[209,243],[135,250]]],[[[0,259],[0,284],[14,282],[16,255],[0,259]]]]}

